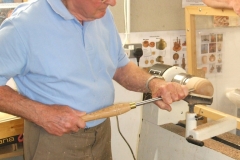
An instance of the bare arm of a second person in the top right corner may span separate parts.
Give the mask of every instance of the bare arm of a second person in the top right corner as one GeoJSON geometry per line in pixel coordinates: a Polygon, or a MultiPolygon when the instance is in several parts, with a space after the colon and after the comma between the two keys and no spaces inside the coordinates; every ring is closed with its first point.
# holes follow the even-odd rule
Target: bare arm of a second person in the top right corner
{"type": "Polygon", "coordinates": [[[209,7],[233,9],[240,15],[240,0],[202,0],[209,7]]]}

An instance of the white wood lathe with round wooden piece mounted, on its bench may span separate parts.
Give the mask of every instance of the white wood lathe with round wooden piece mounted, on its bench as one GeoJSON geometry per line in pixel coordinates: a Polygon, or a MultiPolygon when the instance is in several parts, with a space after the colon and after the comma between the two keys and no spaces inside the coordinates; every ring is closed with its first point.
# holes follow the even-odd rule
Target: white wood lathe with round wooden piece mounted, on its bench
{"type": "MultiPolygon", "coordinates": [[[[197,94],[213,96],[211,82],[188,75],[178,66],[157,64],[149,72],[199,88],[197,94]]],[[[240,128],[239,118],[212,109],[211,101],[201,104],[198,100],[175,102],[171,112],[153,103],[144,105],[138,160],[240,160],[240,138],[229,132],[240,128]],[[206,122],[199,123],[202,117],[206,122]]]]}

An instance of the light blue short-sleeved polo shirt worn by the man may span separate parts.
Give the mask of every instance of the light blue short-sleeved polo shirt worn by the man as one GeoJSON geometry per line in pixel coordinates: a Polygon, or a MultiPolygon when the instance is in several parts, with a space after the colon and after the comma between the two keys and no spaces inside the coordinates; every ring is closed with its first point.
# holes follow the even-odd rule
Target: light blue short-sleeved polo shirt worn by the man
{"type": "Polygon", "coordinates": [[[109,9],[82,25],[61,0],[35,0],[0,27],[0,85],[13,77],[22,95],[44,104],[87,113],[110,106],[114,73],[128,62],[109,9]]]}

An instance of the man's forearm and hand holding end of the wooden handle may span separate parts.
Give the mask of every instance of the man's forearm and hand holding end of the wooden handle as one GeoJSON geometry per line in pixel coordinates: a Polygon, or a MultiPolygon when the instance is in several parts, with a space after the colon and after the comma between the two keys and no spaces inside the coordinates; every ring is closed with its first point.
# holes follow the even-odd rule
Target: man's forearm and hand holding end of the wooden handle
{"type": "Polygon", "coordinates": [[[85,122],[79,120],[85,113],[68,106],[45,105],[30,100],[8,86],[0,86],[0,111],[34,122],[58,136],[85,127],[85,122]]]}

